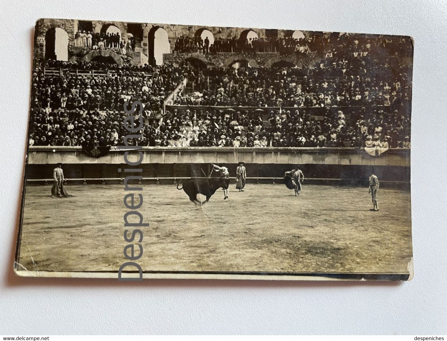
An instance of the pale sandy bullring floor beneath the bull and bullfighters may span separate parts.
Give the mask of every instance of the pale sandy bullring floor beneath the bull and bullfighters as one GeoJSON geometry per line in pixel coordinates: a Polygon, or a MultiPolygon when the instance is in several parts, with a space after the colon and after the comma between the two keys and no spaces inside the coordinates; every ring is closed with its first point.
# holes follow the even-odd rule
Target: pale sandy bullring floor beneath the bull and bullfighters
{"type": "MultiPolygon", "coordinates": [[[[19,269],[117,272],[123,248],[122,185],[27,185],[19,269]]],[[[143,185],[143,272],[408,273],[410,191],[365,187],[230,185],[195,206],[176,185],[143,185]]],[[[199,195],[200,197],[200,195],[199,195]]],[[[204,199],[202,199],[204,200],[204,199]]],[[[132,230],[131,228],[128,228],[132,230]]],[[[138,249],[135,250],[138,254],[138,249]]]]}

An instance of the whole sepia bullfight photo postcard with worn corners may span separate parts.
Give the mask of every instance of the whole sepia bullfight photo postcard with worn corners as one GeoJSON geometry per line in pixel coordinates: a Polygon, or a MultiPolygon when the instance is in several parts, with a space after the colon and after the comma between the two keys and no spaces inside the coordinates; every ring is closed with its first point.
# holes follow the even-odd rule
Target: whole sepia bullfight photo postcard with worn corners
{"type": "Polygon", "coordinates": [[[39,19],[20,276],[409,280],[406,36],[39,19]]]}

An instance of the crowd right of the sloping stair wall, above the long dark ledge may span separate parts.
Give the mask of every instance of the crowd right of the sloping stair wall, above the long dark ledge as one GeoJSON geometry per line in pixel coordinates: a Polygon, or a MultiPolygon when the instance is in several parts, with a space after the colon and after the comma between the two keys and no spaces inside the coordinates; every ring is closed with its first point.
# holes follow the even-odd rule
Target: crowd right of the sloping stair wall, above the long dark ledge
{"type": "Polygon", "coordinates": [[[213,106],[399,107],[411,98],[411,67],[397,59],[331,57],[312,67],[207,68],[195,72],[194,91],[175,104],[213,106]]]}

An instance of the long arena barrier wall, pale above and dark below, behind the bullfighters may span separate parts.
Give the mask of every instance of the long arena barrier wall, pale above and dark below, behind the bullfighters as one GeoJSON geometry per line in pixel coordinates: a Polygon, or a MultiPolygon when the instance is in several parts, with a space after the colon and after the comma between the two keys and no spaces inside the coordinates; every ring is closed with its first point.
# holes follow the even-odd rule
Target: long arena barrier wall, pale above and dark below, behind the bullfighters
{"type": "MultiPolygon", "coordinates": [[[[248,182],[282,183],[284,172],[296,165],[309,181],[363,184],[374,172],[381,181],[406,185],[410,182],[409,149],[388,149],[381,156],[370,156],[360,148],[142,147],[142,152],[139,167],[143,168],[146,183],[206,177],[211,163],[223,162],[230,177],[235,177],[239,161],[245,162],[248,182]]],[[[134,154],[129,156],[130,161],[137,160],[134,154]]],[[[29,182],[51,181],[55,164],[61,162],[69,181],[120,183],[128,175],[123,169],[129,168],[123,156],[124,151],[112,150],[94,158],[81,147],[30,147],[25,176],[29,182]]]]}

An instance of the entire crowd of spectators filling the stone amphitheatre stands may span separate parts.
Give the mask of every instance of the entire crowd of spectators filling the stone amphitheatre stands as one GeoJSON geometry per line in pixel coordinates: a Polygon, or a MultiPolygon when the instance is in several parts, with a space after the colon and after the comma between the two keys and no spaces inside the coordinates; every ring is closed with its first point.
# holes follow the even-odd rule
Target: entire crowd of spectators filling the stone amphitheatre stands
{"type": "MultiPolygon", "coordinates": [[[[128,134],[124,103],[138,100],[143,112],[135,120],[143,121],[142,138],[128,143],[139,146],[410,147],[412,69],[405,63],[411,53],[409,39],[337,34],[274,41],[269,45],[268,39],[246,40],[244,46],[257,52],[283,49],[289,55],[305,53],[299,48],[307,47],[320,51],[320,63],[200,69],[189,63],[118,67],[104,60],[46,61],[33,74],[30,145],[120,145],[128,134]],[[59,67],[61,72],[45,74],[44,67],[59,67]],[[108,72],[75,72],[92,69],[108,72]],[[177,93],[174,104],[210,109],[163,112],[164,100],[184,79],[192,88],[177,93]],[[310,108],[324,113],[311,115],[310,108]]],[[[115,48],[106,38],[105,45],[115,48]]],[[[214,53],[233,51],[234,46],[239,53],[245,49],[237,50],[235,39],[209,44],[200,37],[179,38],[176,51],[202,48],[214,53]]]]}

